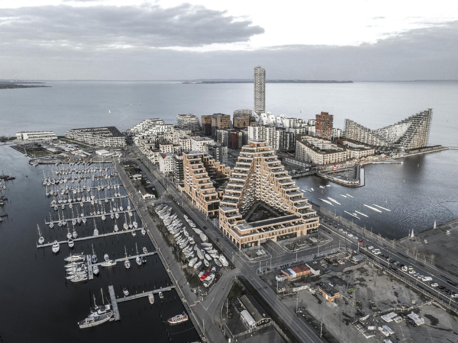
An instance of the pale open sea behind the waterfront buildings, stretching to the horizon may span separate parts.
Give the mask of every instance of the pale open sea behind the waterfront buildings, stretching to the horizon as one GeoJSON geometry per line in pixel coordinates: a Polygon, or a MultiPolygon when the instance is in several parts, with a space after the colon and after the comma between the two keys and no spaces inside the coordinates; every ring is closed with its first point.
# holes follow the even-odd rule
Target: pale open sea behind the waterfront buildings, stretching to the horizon
{"type": "MultiPolygon", "coordinates": [[[[234,109],[253,108],[253,85],[246,83],[49,81],[46,85],[52,88],[0,90],[0,135],[28,130],[63,134],[70,128],[102,125],[125,130],[145,118],[174,123],[177,114],[232,114],[234,109]]],[[[343,129],[349,118],[376,129],[433,108],[430,143],[458,146],[457,94],[458,82],[267,83],[266,109],[304,119],[327,111],[334,115],[335,127],[343,129]]]]}

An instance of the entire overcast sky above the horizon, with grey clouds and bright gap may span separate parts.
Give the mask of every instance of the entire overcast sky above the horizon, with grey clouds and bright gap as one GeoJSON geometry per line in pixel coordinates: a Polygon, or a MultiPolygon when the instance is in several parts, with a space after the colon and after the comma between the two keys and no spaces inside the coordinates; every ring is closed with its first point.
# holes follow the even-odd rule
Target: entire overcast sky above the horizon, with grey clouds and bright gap
{"type": "Polygon", "coordinates": [[[0,0],[0,78],[458,79],[456,1],[0,0]]]}

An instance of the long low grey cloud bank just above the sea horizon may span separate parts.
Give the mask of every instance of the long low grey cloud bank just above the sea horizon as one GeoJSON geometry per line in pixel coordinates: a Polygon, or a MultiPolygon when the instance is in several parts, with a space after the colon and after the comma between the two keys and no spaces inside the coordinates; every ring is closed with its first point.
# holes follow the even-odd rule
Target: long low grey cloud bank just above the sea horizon
{"type": "Polygon", "coordinates": [[[17,41],[0,44],[0,76],[20,78],[164,80],[252,78],[262,65],[268,79],[458,79],[458,21],[413,29],[357,46],[282,45],[242,51],[77,49],[17,41]]]}

